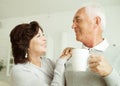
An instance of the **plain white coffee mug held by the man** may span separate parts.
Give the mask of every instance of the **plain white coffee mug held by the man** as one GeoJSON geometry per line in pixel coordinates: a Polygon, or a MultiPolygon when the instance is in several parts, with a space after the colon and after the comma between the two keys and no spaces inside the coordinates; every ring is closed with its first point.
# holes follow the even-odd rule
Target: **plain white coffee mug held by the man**
{"type": "Polygon", "coordinates": [[[88,66],[89,50],[75,48],[72,50],[72,70],[73,71],[86,71],[88,66]]]}

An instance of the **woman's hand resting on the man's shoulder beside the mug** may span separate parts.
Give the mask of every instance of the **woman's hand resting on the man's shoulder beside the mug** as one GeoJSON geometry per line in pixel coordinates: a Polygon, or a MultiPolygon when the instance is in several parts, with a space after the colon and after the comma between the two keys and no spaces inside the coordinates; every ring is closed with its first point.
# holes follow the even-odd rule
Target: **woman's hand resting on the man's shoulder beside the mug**
{"type": "Polygon", "coordinates": [[[63,50],[62,55],[60,56],[60,58],[69,59],[69,58],[72,56],[72,54],[71,54],[72,49],[73,49],[72,47],[67,47],[67,48],[65,48],[65,49],[63,50]]]}

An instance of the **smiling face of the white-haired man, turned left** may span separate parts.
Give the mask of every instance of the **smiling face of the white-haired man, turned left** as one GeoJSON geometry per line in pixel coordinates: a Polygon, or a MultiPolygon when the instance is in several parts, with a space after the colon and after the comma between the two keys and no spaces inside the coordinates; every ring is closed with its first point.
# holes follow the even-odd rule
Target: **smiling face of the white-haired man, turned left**
{"type": "Polygon", "coordinates": [[[85,8],[77,11],[73,19],[72,28],[76,33],[76,40],[83,44],[89,42],[93,36],[94,21],[90,19],[85,8]]]}

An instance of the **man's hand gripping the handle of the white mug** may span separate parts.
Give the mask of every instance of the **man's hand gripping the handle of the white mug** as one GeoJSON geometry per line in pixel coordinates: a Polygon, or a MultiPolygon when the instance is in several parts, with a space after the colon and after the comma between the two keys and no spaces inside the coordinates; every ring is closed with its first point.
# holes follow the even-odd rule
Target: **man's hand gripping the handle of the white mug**
{"type": "Polygon", "coordinates": [[[112,72],[112,67],[103,56],[90,55],[88,63],[91,71],[103,77],[109,75],[112,72]]]}

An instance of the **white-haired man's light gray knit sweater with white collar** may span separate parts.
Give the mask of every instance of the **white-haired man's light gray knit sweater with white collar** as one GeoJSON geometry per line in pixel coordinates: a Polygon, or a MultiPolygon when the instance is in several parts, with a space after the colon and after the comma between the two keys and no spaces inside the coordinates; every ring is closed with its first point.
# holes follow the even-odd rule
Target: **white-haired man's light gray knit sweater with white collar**
{"type": "Polygon", "coordinates": [[[106,44],[104,41],[90,51],[102,54],[112,65],[112,73],[106,77],[101,77],[91,72],[89,68],[86,72],[74,72],[70,59],[66,63],[66,86],[120,86],[120,48],[112,45],[106,47],[106,44]]]}

